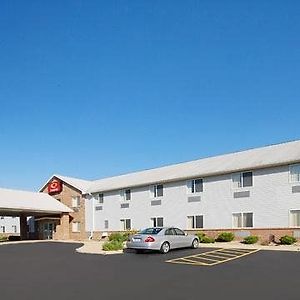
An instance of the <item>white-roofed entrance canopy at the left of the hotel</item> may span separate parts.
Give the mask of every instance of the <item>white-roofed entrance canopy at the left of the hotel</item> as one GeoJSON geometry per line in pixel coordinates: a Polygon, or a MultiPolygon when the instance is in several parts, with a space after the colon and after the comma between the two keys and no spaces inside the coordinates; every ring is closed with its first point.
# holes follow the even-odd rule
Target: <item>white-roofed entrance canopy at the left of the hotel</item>
{"type": "Polygon", "coordinates": [[[42,216],[73,212],[72,209],[46,193],[0,188],[1,216],[42,216]]]}

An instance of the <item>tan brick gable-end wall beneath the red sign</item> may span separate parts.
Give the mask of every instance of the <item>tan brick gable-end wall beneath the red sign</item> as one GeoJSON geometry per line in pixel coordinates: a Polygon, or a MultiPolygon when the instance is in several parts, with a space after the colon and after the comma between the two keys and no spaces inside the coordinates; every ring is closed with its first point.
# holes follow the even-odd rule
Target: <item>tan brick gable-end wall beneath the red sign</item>
{"type": "MultiPolygon", "coordinates": [[[[48,193],[47,186],[43,190],[44,193],[48,193]]],[[[66,222],[66,216],[62,216],[59,224],[56,226],[56,232],[54,234],[54,239],[74,239],[74,240],[83,240],[86,239],[88,234],[85,230],[85,199],[82,197],[82,194],[75,188],[63,182],[62,191],[59,194],[52,195],[55,199],[61,201],[66,206],[74,210],[73,213],[70,213],[68,216],[68,222],[66,222]],[[80,197],[80,206],[77,208],[72,207],[72,197],[80,197]],[[72,231],[72,222],[80,222],[80,231],[72,231]],[[66,228],[67,227],[67,228],[66,228]],[[66,231],[68,232],[69,237],[67,237],[66,231]]]]}

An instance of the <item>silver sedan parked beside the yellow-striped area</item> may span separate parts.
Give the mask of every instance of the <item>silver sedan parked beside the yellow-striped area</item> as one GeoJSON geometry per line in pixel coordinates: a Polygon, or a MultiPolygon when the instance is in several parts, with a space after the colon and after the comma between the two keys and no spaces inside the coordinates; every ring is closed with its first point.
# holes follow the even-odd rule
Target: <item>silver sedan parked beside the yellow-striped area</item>
{"type": "Polygon", "coordinates": [[[199,239],[196,235],[186,234],[176,227],[151,227],[129,237],[126,246],[138,252],[143,250],[159,250],[165,254],[170,249],[198,248],[199,239]]]}

